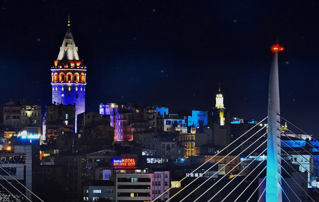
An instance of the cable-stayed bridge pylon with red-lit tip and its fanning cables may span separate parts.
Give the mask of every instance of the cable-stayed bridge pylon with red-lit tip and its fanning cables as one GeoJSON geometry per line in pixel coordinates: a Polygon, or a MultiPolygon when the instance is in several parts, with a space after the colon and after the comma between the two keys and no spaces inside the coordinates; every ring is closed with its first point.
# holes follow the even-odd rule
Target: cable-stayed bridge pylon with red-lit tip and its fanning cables
{"type": "Polygon", "coordinates": [[[259,123],[263,127],[249,134],[259,125],[256,124],[207,159],[180,181],[186,182],[166,202],[319,201],[316,197],[319,196],[319,156],[314,155],[319,152],[319,141],[280,114],[278,52],[282,50],[278,44],[272,47],[268,116],[259,123]],[[281,120],[289,122],[303,135],[292,132],[291,128],[288,130],[281,120]],[[240,161],[236,162],[238,158],[240,161]],[[225,169],[234,162],[237,163],[235,166],[225,169]],[[216,167],[218,170],[211,174],[216,167]],[[239,172],[235,172],[237,168],[240,168],[239,172]],[[199,171],[204,172],[194,178],[199,171]],[[209,173],[206,175],[209,177],[203,178],[209,173]]]}

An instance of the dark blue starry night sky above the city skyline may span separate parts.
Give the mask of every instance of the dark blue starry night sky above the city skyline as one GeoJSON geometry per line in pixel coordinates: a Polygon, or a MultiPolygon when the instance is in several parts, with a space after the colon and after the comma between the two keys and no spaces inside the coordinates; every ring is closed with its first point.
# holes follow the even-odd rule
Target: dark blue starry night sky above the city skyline
{"type": "Polygon", "coordinates": [[[316,0],[1,0],[0,102],[51,103],[50,67],[70,13],[87,110],[211,110],[220,83],[232,117],[260,120],[278,39],[281,115],[319,135],[318,10],[316,0]]]}

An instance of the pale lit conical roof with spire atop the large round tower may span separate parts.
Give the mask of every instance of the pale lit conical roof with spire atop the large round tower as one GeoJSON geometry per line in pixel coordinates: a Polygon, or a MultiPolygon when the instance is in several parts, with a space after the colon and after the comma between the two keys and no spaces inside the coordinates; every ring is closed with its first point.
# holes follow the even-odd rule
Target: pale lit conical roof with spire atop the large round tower
{"type": "Polygon", "coordinates": [[[68,29],[65,34],[60,53],[57,60],[80,60],[78,47],[75,46],[70,29],[70,18],[68,20],[68,29]]]}

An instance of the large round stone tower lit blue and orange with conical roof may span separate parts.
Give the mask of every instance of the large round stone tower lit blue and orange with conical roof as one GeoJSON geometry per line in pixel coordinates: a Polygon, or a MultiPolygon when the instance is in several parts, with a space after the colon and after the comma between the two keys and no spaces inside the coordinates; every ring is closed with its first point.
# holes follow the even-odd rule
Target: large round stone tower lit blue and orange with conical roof
{"type": "Polygon", "coordinates": [[[75,104],[76,115],[84,112],[86,71],[73,40],[69,17],[58,59],[51,67],[52,103],[75,104]]]}

